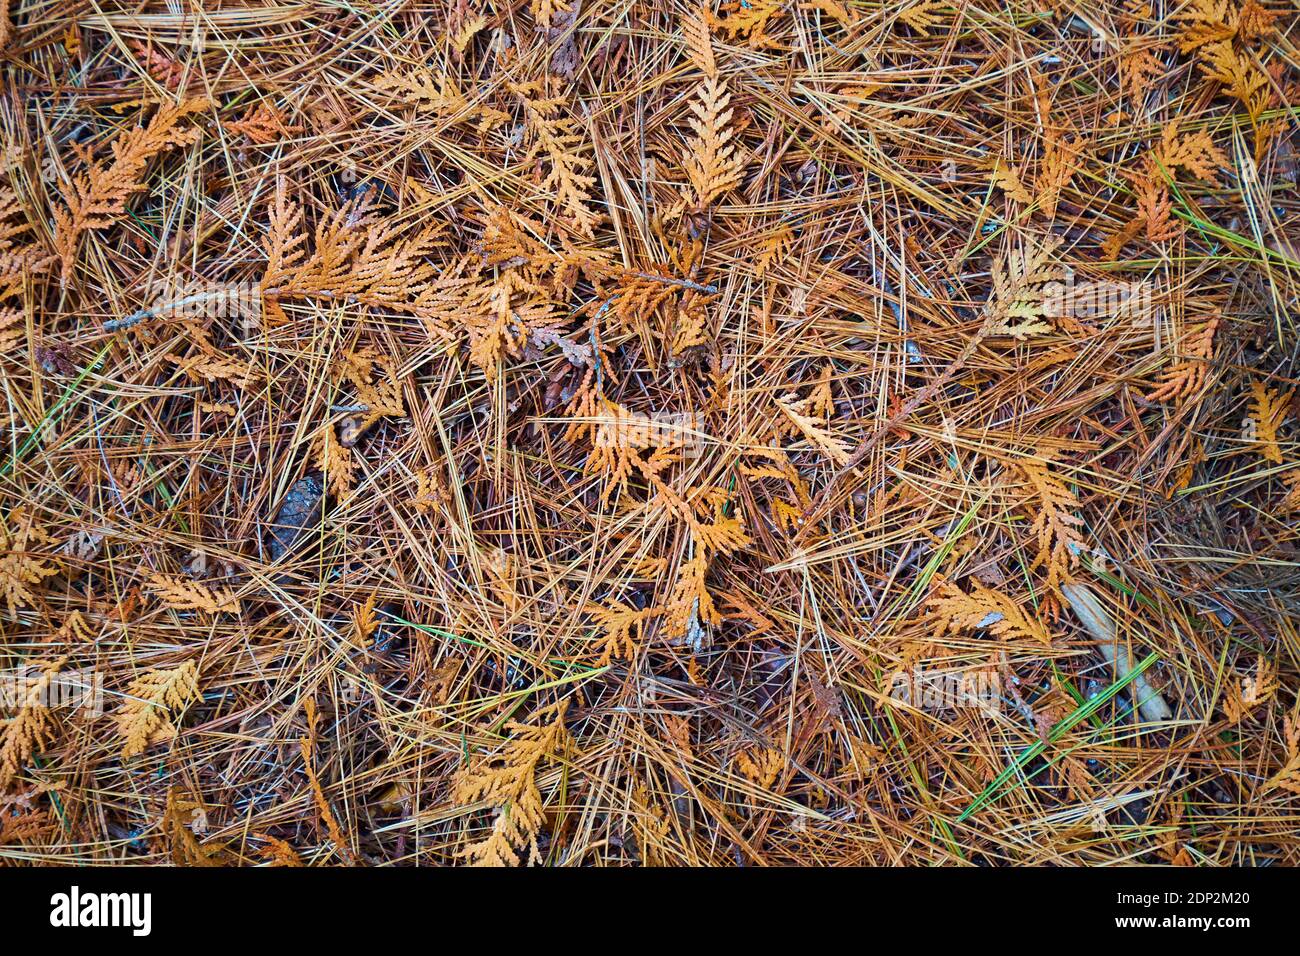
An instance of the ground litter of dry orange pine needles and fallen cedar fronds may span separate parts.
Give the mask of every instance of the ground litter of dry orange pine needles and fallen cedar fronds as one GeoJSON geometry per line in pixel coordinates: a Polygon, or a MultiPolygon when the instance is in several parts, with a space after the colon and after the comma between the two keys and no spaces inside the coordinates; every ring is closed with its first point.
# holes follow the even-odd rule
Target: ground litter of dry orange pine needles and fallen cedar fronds
{"type": "Polygon", "coordinates": [[[1297,862],[1294,5],[3,26],[0,860],[1297,862]]]}

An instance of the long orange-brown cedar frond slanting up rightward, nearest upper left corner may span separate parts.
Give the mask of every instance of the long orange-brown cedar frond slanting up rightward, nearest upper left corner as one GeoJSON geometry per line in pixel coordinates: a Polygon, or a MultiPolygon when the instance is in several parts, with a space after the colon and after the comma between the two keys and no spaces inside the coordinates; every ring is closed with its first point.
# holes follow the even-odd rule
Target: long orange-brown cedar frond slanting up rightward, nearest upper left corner
{"type": "Polygon", "coordinates": [[[143,176],[150,161],[168,150],[199,140],[202,130],[182,127],[181,122],[208,105],[208,100],[195,98],[160,107],[148,124],[113,140],[110,164],[94,163],[73,179],[66,207],[55,209],[55,248],[64,264],[64,281],[72,276],[81,237],[126,215],[126,200],[144,189],[143,176]]]}

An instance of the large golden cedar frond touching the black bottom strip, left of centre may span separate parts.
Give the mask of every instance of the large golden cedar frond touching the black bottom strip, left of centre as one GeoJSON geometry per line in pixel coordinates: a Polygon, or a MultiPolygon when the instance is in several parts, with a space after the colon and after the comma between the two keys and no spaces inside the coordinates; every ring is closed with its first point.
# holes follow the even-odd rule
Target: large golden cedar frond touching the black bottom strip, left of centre
{"type": "MultiPolygon", "coordinates": [[[[549,708],[549,723],[510,722],[510,740],[498,753],[467,767],[456,775],[452,799],[462,806],[486,803],[497,808],[491,832],[478,843],[460,851],[474,866],[517,866],[520,853],[528,862],[542,861],[537,835],[545,822],[542,793],[537,787],[537,767],[554,760],[567,740],[564,711],[568,701],[549,708]]],[[[546,711],[534,715],[541,717],[546,711]]]]}

